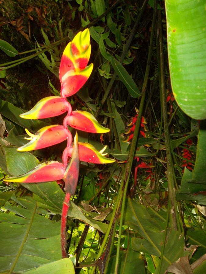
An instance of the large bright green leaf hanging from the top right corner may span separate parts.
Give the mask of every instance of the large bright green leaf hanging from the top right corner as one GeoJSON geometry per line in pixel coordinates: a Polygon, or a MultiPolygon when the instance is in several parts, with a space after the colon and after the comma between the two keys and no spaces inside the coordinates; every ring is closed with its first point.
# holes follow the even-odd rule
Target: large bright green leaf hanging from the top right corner
{"type": "Polygon", "coordinates": [[[194,119],[206,119],[204,0],[166,0],[168,58],[173,94],[194,119]]]}

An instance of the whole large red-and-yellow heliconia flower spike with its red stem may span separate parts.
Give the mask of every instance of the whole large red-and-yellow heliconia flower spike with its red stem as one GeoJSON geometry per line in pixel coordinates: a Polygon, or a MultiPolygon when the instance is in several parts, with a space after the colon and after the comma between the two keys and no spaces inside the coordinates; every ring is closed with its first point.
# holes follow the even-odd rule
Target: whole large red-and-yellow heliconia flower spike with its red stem
{"type": "Polygon", "coordinates": [[[86,111],[72,111],[67,97],[72,96],[85,84],[89,78],[93,64],[87,67],[91,54],[89,43],[89,29],[79,32],[65,48],[60,63],[61,97],[50,96],[40,100],[30,111],[20,115],[24,119],[43,119],[67,112],[63,125],[46,126],[38,130],[34,135],[26,129],[30,140],[17,151],[30,151],[56,145],[67,139],[67,147],[63,151],[62,163],[48,161],[41,163],[31,171],[17,177],[4,179],[5,182],[16,183],[38,183],[64,180],[66,196],[63,202],[61,219],[61,246],[62,257],[68,257],[66,253],[66,220],[71,195],[74,195],[79,175],[79,161],[88,163],[113,163],[115,160],[104,157],[106,149],[97,151],[89,143],[78,143],[78,135],[74,137],[68,129],[71,126],[75,129],[92,133],[105,133],[109,129],[101,126],[97,120],[86,111]],[[68,158],[70,160],[68,161],[68,158]]]}

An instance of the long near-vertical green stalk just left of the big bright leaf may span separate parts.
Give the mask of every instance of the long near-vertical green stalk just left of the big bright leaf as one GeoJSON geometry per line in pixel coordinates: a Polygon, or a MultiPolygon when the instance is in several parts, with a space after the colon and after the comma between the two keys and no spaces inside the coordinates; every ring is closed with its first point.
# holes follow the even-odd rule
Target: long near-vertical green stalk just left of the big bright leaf
{"type": "Polygon", "coordinates": [[[163,51],[163,37],[162,37],[162,25],[161,25],[161,10],[158,10],[158,47],[157,47],[157,57],[159,63],[160,71],[160,93],[161,93],[161,108],[163,111],[163,121],[164,121],[164,135],[165,135],[165,147],[166,147],[166,157],[167,157],[167,170],[168,170],[168,196],[169,196],[169,210],[170,210],[170,225],[173,229],[179,230],[179,218],[177,211],[177,204],[175,199],[175,185],[173,178],[173,163],[172,154],[170,151],[170,134],[167,121],[167,105],[166,105],[166,93],[165,93],[165,81],[164,81],[164,51],[163,51]]]}

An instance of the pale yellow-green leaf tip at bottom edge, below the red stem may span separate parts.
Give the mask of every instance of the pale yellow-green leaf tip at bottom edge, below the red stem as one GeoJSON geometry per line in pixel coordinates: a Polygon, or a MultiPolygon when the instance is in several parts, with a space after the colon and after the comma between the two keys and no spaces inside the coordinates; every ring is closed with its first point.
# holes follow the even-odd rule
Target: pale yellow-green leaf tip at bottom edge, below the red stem
{"type": "Polygon", "coordinates": [[[74,264],[69,258],[64,258],[49,264],[41,265],[38,268],[23,272],[24,274],[56,274],[56,273],[70,273],[75,274],[74,264]]]}

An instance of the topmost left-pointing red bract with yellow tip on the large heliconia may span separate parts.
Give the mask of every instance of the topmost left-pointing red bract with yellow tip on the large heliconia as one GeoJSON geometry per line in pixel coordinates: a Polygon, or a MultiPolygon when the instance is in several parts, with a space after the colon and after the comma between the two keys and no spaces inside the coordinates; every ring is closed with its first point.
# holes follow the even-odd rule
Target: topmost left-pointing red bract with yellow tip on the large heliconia
{"type": "Polygon", "coordinates": [[[60,96],[45,97],[30,110],[20,114],[25,119],[44,119],[58,116],[64,112],[71,112],[71,105],[66,98],[60,96]]]}

